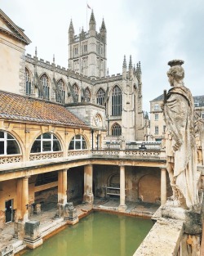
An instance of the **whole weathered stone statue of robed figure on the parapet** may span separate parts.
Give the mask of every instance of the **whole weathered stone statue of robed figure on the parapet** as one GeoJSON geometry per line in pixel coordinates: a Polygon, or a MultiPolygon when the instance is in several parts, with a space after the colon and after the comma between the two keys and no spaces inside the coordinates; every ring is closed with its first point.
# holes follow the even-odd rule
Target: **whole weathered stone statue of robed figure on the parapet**
{"type": "Polygon", "coordinates": [[[194,102],[184,87],[184,61],[169,61],[167,72],[171,89],[162,110],[166,122],[166,169],[173,191],[173,203],[185,209],[198,204],[197,150],[194,134],[194,102]]]}

